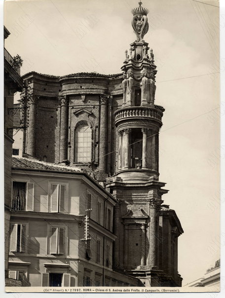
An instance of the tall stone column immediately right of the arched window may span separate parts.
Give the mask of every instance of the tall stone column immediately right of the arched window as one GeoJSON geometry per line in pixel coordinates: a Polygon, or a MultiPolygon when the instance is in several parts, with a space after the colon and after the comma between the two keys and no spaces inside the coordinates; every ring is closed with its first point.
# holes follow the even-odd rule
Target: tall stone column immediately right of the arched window
{"type": "Polygon", "coordinates": [[[99,172],[107,173],[107,97],[100,97],[99,172]]]}

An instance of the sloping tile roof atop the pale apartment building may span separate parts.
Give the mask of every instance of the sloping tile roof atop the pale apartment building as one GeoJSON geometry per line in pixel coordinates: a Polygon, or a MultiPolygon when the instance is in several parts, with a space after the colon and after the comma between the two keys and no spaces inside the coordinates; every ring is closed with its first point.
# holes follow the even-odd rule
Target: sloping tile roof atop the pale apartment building
{"type": "Polygon", "coordinates": [[[71,167],[62,164],[55,164],[41,161],[38,159],[30,159],[26,157],[12,157],[13,169],[34,169],[40,171],[57,171],[57,172],[81,172],[78,167],[71,167]]]}

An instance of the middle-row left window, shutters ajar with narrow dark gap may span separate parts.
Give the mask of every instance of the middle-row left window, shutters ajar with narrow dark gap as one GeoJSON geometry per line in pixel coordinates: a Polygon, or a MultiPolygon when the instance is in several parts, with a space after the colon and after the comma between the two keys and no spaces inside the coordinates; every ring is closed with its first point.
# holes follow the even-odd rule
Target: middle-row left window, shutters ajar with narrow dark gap
{"type": "Polygon", "coordinates": [[[26,246],[26,225],[11,224],[10,251],[25,252],[26,246]]]}

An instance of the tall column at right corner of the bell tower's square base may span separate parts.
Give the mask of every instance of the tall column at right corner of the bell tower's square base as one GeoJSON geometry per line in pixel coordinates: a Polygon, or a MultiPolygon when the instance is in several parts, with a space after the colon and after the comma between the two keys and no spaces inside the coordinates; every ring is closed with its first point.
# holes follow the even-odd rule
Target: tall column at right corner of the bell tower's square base
{"type": "Polygon", "coordinates": [[[150,201],[150,239],[149,239],[149,265],[156,267],[156,204],[155,200],[150,201]]]}

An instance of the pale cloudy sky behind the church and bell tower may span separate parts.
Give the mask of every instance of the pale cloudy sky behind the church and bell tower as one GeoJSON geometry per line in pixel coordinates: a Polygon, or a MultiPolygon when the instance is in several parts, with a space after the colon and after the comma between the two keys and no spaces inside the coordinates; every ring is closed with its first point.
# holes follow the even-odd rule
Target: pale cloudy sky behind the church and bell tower
{"type": "MultiPolygon", "coordinates": [[[[5,48],[24,60],[21,74],[120,73],[135,41],[131,9],[138,0],[5,1],[5,48]]],[[[220,258],[219,1],[143,0],[157,66],[155,104],[165,108],[159,135],[159,180],[184,234],[179,237],[183,285],[220,258]],[[204,2],[204,3],[201,3],[204,2]]],[[[221,152],[220,152],[221,151],[221,152]]],[[[225,200],[225,189],[222,189],[225,200]]],[[[225,239],[221,238],[225,243],[225,239]]]]}

